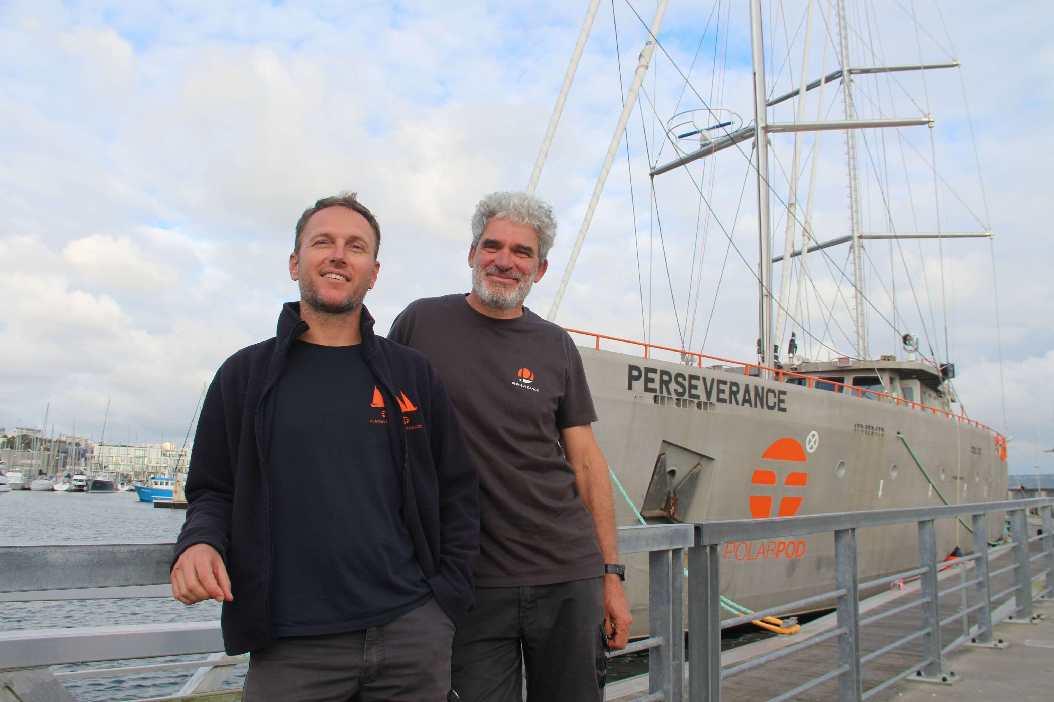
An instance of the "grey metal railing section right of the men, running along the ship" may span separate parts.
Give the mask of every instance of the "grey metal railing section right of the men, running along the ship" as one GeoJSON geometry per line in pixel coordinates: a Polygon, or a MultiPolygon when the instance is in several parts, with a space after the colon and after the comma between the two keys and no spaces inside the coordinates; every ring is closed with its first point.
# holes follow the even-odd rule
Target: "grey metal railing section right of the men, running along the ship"
{"type": "Polygon", "coordinates": [[[943,654],[971,640],[980,645],[989,644],[992,641],[992,627],[995,623],[1010,616],[1021,620],[1029,619],[1032,617],[1033,599],[1042,597],[1047,591],[1054,591],[1054,536],[1051,535],[1051,531],[1054,530],[1054,516],[1052,516],[1052,510],[1054,510],[1054,498],[1034,498],[1031,500],[940,507],[807,515],[801,517],[734,520],[696,524],[696,546],[688,551],[688,628],[691,631],[703,634],[702,637],[697,634],[692,638],[692,641],[697,638],[702,638],[703,645],[692,645],[688,649],[688,664],[691,671],[691,676],[688,679],[689,701],[720,702],[721,681],[723,679],[755,669],[793,653],[804,650],[820,640],[827,641],[835,638],[838,640],[838,663],[833,670],[823,673],[798,685],[794,689],[773,698],[768,702],[789,699],[794,695],[835,678],[839,681],[838,698],[840,702],[860,702],[873,697],[882,689],[886,689],[896,681],[915,674],[918,675],[913,679],[939,680],[942,676],[941,656],[943,654]],[[1028,536],[1028,524],[1024,517],[1028,509],[1040,510],[1043,521],[1042,539],[1028,536]],[[1006,548],[990,548],[988,543],[988,515],[999,513],[1010,514],[1013,543],[1009,544],[1009,547],[1006,548]],[[964,517],[973,519],[974,553],[948,561],[939,561],[937,559],[936,520],[960,519],[964,517]],[[858,583],[856,562],[857,529],[911,522],[918,524],[919,567],[907,569],[895,576],[885,576],[863,584],[858,583]],[[836,590],[798,600],[787,605],[763,609],[749,616],[737,617],[724,622],[721,621],[722,561],[720,549],[723,544],[782,539],[823,533],[834,533],[836,590]],[[1029,544],[1040,540],[1042,541],[1042,551],[1039,555],[1029,555],[1029,544]],[[1014,563],[990,573],[990,561],[996,555],[1007,550],[1012,551],[1014,563]],[[1031,563],[1039,559],[1046,559],[1045,568],[1037,574],[1030,573],[1031,563]],[[953,566],[958,566],[961,582],[941,590],[938,587],[938,580],[944,576],[941,576],[940,573],[944,571],[945,575],[951,575],[949,569],[953,566]],[[968,567],[975,569],[974,576],[970,579],[967,579],[965,568],[968,567]],[[989,588],[991,578],[1007,573],[1014,574],[1014,585],[992,596],[989,588]],[[919,599],[892,607],[872,617],[860,618],[859,604],[856,597],[859,591],[886,582],[896,582],[898,578],[914,575],[917,575],[920,580],[921,597],[919,599]],[[1033,582],[1043,577],[1047,578],[1047,587],[1038,596],[1034,595],[1033,582]],[[971,593],[975,594],[975,602],[972,604],[969,602],[971,593]],[[961,602],[958,611],[950,617],[941,618],[938,607],[941,601],[940,598],[956,594],[961,602]],[[1013,600],[1008,600],[997,609],[993,609],[993,602],[1008,595],[1012,595],[1013,600]],[[793,611],[795,606],[801,607],[804,602],[815,602],[824,599],[829,601],[833,597],[837,609],[836,623],[833,630],[828,630],[820,636],[814,636],[814,638],[806,639],[805,641],[796,642],[793,645],[777,649],[759,658],[747,660],[731,668],[722,669],[720,641],[713,636],[714,629],[720,631],[726,622],[738,623],[740,620],[756,619],[765,614],[793,611]],[[903,614],[914,607],[921,607],[920,618],[922,626],[920,628],[907,633],[897,641],[881,646],[875,651],[861,655],[860,629],[863,626],[898,614],[903,614]],[[940,638],[941,627],[949,626],[960,620],[962,623],[962,634],[956,637],[952,643],[942,647],[940,638]],[[973,626],[971,626],[971,620],[975,622],[973,626]],[[863,678],[860,673],[860,666],[863,663],[873,661],[910,641],[918,639],[922,640],[922,660],[919,663],[889,680],[874,685],[867,690],[862,689],[863,678]]]}

